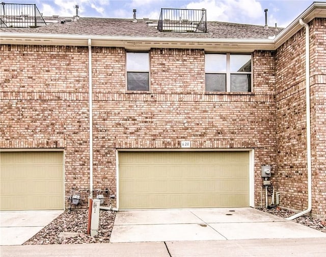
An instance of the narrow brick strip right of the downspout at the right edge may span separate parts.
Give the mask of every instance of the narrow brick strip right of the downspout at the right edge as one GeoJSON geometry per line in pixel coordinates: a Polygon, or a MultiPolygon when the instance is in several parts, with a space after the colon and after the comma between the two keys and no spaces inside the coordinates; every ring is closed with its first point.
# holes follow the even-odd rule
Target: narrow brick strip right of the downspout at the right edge
{"type": "Polygon", "coordinates": [[[326,216],[326,19],[311,23],[311,126],[313,213],[326,216]]]}

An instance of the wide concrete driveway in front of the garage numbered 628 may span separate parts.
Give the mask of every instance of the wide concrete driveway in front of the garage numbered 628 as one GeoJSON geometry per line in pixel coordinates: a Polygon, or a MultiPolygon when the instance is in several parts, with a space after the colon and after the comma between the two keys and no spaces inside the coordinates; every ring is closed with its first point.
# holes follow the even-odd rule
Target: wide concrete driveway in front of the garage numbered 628
{"type": "Polygon", "coordinates": [[[119,211],[111,243],[326,238],[326,233],[254,208],[119,211]]]}

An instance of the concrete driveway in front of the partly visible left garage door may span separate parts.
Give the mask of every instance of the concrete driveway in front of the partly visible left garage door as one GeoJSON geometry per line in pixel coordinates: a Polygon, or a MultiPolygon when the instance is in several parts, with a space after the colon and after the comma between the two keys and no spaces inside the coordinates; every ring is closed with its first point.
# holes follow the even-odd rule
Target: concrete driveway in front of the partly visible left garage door
{"type": "Polygon", "coordinates": [[[0,245],[21,245],[43,229],[62,211],[0,212],[0,245]]]}

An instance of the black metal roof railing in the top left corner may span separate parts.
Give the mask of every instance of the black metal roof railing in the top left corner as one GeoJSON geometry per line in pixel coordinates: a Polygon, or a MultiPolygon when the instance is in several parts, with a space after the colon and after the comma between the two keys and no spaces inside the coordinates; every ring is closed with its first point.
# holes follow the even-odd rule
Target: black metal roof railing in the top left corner
{"type": "Polygon", "coordinates": [[[6,4],[0,6],[0,27],[39,27],[46,25],[35,4],[6,4]]]}

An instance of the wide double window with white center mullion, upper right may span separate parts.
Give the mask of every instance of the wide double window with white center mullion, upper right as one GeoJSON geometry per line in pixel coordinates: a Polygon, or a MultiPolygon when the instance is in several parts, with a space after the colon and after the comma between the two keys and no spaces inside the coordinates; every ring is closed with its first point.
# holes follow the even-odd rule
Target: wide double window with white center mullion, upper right
{"type": "Polygon", "coordinates": [[[251,54],[205,54],[206,92],[251,92],[251,54]]]}

